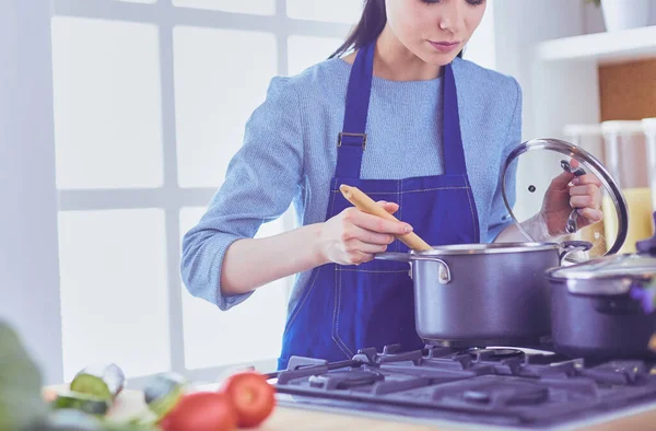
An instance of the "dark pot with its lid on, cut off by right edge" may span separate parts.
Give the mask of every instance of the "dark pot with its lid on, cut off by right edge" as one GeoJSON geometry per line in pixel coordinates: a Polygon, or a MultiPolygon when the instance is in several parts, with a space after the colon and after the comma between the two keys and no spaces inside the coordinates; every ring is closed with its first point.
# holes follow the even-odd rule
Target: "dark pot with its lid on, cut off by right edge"
{"type": "Polygon", "coordinates": [[[656,236],[636,248],[547,271],[557,351],[596,359],[654,356],[656,236]]]}

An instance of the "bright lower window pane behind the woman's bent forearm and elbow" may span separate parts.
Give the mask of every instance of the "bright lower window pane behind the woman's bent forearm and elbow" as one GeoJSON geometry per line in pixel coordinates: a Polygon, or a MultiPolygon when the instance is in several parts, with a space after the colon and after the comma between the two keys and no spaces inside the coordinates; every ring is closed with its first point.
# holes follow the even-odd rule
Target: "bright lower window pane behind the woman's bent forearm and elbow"
{"type": "MultiPolygon", "coordinates": [[[[180,210],[181,234],[191,229],[204,208],[180,210]]],[[[286,215],[285,215],[286,217],[286,215]]],[[[283,231],[283,218],[262,224],[256,237],[283,231]]],[[[183,287],[185,364],[188,369],[250,363],[278,358],[286,318],[290,279],[258,289],[229,312],[194,298],[183,287]]]]}

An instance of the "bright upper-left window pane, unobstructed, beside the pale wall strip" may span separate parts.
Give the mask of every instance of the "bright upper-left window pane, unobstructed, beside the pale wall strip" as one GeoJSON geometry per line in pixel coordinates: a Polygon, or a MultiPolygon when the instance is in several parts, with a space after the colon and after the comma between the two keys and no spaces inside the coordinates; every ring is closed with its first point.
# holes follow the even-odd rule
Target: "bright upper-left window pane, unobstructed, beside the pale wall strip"
{"type": "Polygon", "coordinates": [[[59,188],[163,183],[154,25],[52,19],[59,188]]]}

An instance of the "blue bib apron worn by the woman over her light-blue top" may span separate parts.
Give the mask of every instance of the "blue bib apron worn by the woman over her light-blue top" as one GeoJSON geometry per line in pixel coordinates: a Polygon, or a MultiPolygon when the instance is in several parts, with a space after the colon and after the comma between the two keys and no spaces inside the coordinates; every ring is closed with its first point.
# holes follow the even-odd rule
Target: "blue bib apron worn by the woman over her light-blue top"
{"type": "MultiPolygon", "coordinates": [[[[478,213],[467,177],[460,136],[456,82],[452,66],[444,67],[443,147],[444,175],[405,179],[361,179],[360,166],[374,65],[375,43],[355,58],[347,92],[343,131],[326,220],[351,203],[339,186],[355,186],[374,200],[399,203],[395,214],[413,226],[431,245],[479,242],[478,213]]],[[[421,113],[418,113],[421,115],[421,113]]],[[[412,142],[399,142],[409,144],[412,142]]],[[[396,241],[389,251],[407,252],[396,241]]],[[[414,325],[414,294],[408,264],[373,260],[360,266],[328,264],[313,270],[308,284],[290,314],[278,369],[292,356],[341,361],[359,349],[401,345],[401,350],[423,347],[414,325]]]]}

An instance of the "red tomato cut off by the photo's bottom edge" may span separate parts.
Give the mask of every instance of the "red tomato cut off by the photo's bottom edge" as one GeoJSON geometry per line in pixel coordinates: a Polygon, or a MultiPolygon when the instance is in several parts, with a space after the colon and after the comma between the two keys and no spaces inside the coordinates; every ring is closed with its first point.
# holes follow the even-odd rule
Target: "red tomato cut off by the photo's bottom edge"
{"type": "Polygon", "coordinates": [[[237,415],[231,400],[221,393],[185,394],[161,421],[164,431],[232,431],[237,415]]]}

